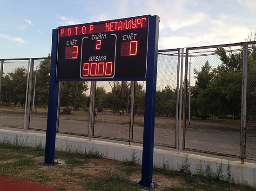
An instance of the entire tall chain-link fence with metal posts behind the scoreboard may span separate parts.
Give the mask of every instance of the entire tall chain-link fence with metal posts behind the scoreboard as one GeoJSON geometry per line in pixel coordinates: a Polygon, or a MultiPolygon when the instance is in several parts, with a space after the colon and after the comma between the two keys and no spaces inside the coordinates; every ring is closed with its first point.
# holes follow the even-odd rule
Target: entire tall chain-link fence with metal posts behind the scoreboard
{"type": "MultiPolygon", "coordinates": [[[[158,51],[155,145],[256,159],[255,45],[158,51]]],[[[1,59],[2,127],[46,130],[49,71],[49,57],[1,59]]],[[[145,82],[60,83],[58,133],[142,142],[145,82]]]]}

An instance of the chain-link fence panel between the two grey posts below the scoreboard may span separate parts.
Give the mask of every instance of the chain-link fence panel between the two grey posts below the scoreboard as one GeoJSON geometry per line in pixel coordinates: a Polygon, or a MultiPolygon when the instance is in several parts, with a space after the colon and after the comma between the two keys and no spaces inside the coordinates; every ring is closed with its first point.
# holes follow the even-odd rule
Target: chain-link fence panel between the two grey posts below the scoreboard
{"type": "Polygon", "coordinates": [[[97,82],[94,107],[94,136],[128,140],[131,82],[97,82]]]}

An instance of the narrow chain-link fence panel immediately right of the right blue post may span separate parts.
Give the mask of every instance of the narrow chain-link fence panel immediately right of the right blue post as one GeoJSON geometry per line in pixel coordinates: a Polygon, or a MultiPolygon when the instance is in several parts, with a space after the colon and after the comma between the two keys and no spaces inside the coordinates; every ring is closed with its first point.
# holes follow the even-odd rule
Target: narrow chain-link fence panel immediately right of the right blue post
{"type": "Polygon", "coordinates": [[[155,96],[155,145],[175,147],[179,50],[159,51],[155,96]]]}

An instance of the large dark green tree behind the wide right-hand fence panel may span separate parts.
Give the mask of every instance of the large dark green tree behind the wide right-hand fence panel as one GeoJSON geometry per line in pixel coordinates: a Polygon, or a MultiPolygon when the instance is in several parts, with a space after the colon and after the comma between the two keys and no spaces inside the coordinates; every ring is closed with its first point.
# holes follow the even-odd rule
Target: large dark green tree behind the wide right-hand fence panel
{"type": "Polygon", "coordinates": [[[195,71],[195,87],[192,87],[193,114],[201,119],[211,115],[225,118],[241,112],[242,53],[232,51],[229,55],[224,48],[215,53],[222,64],[211,69],[207,61],[201,71],[195,71]]]}

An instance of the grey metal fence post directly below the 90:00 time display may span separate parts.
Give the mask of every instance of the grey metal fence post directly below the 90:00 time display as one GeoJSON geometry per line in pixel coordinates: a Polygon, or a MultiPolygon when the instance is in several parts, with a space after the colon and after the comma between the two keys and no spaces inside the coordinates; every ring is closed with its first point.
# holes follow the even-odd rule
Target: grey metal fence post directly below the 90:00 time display
{"type": "Polygon", "coordinates": [[[96,82],[91,81],[91,91],[90,91],[90,105],[89,105],[89,127],[88,127],[88,137],[91,140],[94,134],[94,109],[95,109],[95,95],[96,95],[96,82]]]}

